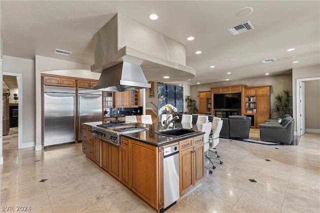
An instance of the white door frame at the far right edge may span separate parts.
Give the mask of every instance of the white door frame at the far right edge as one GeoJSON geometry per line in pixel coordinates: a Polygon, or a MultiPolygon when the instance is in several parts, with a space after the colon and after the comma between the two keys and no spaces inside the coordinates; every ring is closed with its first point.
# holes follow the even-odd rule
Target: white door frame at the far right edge
{"type": "Polygon", "coordinates": [[[301,136],[305,132],[305,114],[304,114],[304,82],[320,80],[320,77],[296,79],[296,133],[301,136]]]}

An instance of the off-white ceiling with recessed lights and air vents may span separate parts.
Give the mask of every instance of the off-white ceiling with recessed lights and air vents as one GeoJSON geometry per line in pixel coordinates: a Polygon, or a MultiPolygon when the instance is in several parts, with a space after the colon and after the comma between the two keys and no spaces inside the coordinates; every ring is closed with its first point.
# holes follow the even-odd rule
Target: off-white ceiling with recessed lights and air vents
{"type": "Polygon", "coordinates": [[[8,56],[42,55],[92,65],[93,35],[118,12],[185,46],[186,65],[195,69],[195,77],[180,84],[265,77],[266,72],[277,75],[320,63],[318,0],[1,0],[0,7],[3,55],[8,56]],[[253,12],[236,17],[244,7],[253,12]],[[151,13],[158,20],[150,20],[151,13]],[[245,21],[254,29],[238,35],[227,30],[245,21]],[[188,41],[188,36],[195,39],[188,41]],[[53,54],[55,48],[72,54],[53,54]],[[276,61],[260,62],[270,58],[276,61]]]}

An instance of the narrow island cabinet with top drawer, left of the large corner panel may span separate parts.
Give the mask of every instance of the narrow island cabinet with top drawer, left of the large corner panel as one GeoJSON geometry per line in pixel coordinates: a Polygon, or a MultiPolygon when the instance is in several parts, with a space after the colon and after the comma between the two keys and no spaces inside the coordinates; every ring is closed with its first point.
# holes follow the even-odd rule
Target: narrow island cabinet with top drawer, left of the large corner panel
{"type": "Polygon", "coordinates": [[[131,141],[127,138],[120,140],[120,181],[126,187],[131,188],[131,141]]]}

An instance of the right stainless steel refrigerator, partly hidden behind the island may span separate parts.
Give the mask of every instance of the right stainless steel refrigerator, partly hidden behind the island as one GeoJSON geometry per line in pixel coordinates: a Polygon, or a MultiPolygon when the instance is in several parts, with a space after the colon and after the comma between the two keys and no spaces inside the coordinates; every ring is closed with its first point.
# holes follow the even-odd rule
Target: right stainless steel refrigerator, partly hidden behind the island
{"type": "Polygon", "coordinates": [[[78,140],[82,140],[81,124],[101,121],[102,92],[100,90],[78,88],[78,140]]]}

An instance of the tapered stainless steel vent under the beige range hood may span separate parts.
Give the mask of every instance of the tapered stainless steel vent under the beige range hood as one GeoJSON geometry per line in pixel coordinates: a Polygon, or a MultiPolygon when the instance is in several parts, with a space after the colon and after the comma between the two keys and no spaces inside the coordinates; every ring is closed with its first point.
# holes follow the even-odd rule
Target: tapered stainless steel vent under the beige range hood
{"type": "Polygon", "coordinates": [[[93,89],[122,92],[150,87],[139,65],[123,61],[102,70],[93,89]]]}

